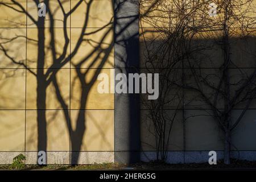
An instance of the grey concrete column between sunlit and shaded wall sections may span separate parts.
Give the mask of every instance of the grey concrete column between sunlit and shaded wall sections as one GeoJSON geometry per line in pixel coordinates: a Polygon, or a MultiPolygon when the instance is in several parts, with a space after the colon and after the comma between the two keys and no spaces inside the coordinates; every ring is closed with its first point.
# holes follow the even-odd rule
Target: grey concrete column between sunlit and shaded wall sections
{"type": "MultiPolygon", "coordinates": [[[[117,73],[139,72],[138,0],[115,0],[114,66],[117,73]],[[125,18],[124,18],[125,17],[125,18]]],[[[115,162],[140,160],[139,94],[115,93],[115,162]]]]}

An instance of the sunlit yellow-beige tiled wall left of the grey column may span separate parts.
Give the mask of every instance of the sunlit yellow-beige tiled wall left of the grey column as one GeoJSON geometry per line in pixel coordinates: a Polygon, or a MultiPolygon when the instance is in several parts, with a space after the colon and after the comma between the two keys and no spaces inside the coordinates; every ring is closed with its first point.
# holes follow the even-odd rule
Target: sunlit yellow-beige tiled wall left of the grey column
{"type": "MultiPolygon", "coordinates": [[[[14,5],[9,0],[1,2],[18,10],[22,6],[29,15],[0,5],[0,43],[10,56],[7,57],[2,51],[0,53],[0,154],[15,156],[26,153],[26,162],[36,163],[39,130],[37,114],[46,111],[48,163],[71,162],[72,142],[77,142],[72,135],[80,133],[79,127],[82,125],[85,125],[85,131],[77,162],[113,162],[114,94],[98,93],[98,81],[95,80],[98,73],[109,74],[114,66],[111,46],[114,41],[112,1],[82,1],[80,4],[78,0],[61,1],[65,13],[79,5],[68,16],[64,26],[64,15],[58,2],[50,0],[48,6],[55,24],[52,27],[47,14],[44,27],[46,59],[43,67],[38,65],[38,30],[43,27],[38,28],[30,18],[32,16],[38,20],[38,8],[34,1],[17,1],[19,5],[14,5]],[[76,50],[86,19],[88,23],[84,41],[76,53],[71,55],[76,50]],[[64,30],[69,43],[62,60],[71,61],[68,60],[63,65],[53,64],[50,41],[54,35],[56,57],[60,57],[65,46],[64,30]],[[102,51],[106,48],[110,52],[102,51]],[[36,100],[40,96],[37,93],[36,74],[42,69],[45,74],[50,73],[48,76],[57,71],[59,93],[67,107],[63,108],[57,99],[55,85],[50,82],[46,90],[46,110],[38,108],[36,100]],[[83,74],[82,80],[78,74],[83,74]],[[82,85],[82,82],[87,85],[82,85]],[[88,94],[81,98],[82,90],[87,90],[88,94]],[[84,101],[85,106],[82,107],[81,102],[84,101]],[[82,120],[78,117],[81,110],[85,110],[82,120]],[[65,118],[65,113],[68,113],[68,119],[65,118]]],[[[79,151],[76,152],[78,154],[79,151]]],[[[11,162],[10,157],[0,163],[11,162]]]]}

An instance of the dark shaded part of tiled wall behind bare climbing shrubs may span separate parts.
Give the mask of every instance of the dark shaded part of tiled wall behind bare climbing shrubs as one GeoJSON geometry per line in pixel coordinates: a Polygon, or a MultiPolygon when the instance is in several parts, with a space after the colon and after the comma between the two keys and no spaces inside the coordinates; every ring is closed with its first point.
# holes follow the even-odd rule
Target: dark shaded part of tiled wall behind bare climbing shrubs
{"type": "MultiPolygon", "coordinates": [[[[147,48],[151,47],[152,55],[155,54],[156,61],[158,55],[161,56],[161,48],[159,45],[164,45],[164,40],[157,40],[160,34],[155,28],[145,28],[148,30],[146,36],[140,42],[141,54],[141,72],[159,73],[159,80],[161,79],[164,66],[150,67],[145,66],[147,61],[147,48]],[[146,37],[146,39],[145,39],[146,37]],[[144,42],[144,40],[147,40],[144,42]],[[147,48],[146,45],[147,44],[147,48]]],[[[197,73],[200,73],[201,78],[208,80],[213,86],[218,85],[221,80],[221,64],[223,59],[222,45],[218,43],[220,38],[215,39],[196,39],[192,40],[193,46],[204,46],[205,49],[190,55],[190,63],[197,73]]],[[[256,68],[256,39],[255,36],[240,36],[230,38],[231,59],[234,63],[230,65],[230,80],[232,82],[231,93],[232,96],[238,88],[251,76],[251,73],[256,68]]],[[[154,57],[154,56],[152,56],[154,57]]],[[[163,61],[168,61],[167,59],[163,61]]],[[[171,68],[171,78],[176,78],[176,82],[182,86],[195,85],[196,81],[193,78],[190,65],[184,62],[182,65],[178,63],[171,68]],[[184,72],[184,80],[182,82],[182,72],[184,72]]],[[[164,64],[163,64],[164,65],[164,64]]],[[[163,78],[163,77],[162,77],[163,78]]],[[[203,79],[203,80],[204,80],[203,79]]],[[[200,84],[204,81],[201,80],[200,84]]],[[[255,82],[255,80],[252,80],[255,82]]],[[[159,81],[160,82],[160,81],[159,81]]],[[[214,98],[214,90],[203,84],[204,93],[207,94],[210,100],[214,98]]],[[[161,85],[159,86],[161,92],[161,85]]],[[[246,91],[245,91],[246,92],[246,91]]],[[[244,92],[244,93],[245,93],[244,92]]],[[[217,151],[218,159],[223,158],[225,137],[223,131],[220,129],[218,122],[214,118],[214,113],[211,106],[204,100],[200,93],[191,89],[179,88],[170,90],[168,94],[172,102],[163,105],[163,110],[168,115],[167,118],[172,118],[175,115],[174,122],[167,121],[167,125],[172,125],[170,141],[168,144],[168,158],[170,163],[191,163],[191,162],[207,162],[209,159],[209,151],[217,151]],[[180,97],[176,93],[180,93],[180,97]],[[182,97],[183,93],[183,97],[182,97]],[[176,96],[176,97],[174,97],[176,96]],[[183,101],[182,105],[179,101],[183,101]],[[185,134],[185,135],[184,135],[185,134]]],[[[146,100],[142,96],[143,100],[146,100]]],[[[146,101],[149,103],[149,101],[146,101]]],[[[256,100],[251,101],[242,117],[241,122],[232,131],[232,158],[255,160],[256,142],[255,138],[255,118],[256,118],[256,100]]],[[[245,108],[245,102],[238,103],[230,112],[232,123],[236,122],[237,118],[245,108]]],[[[225,101],[223,98],[218,98],[217,108],[223,110],[225,101]]],[[[166,126],[166,130],[168,129],[166,126]]],[[[150,109],[141,103],[141,150],[142,160],[150,161],[156,159],[156,132],[154,122],[151,119],[150,109]]]]}

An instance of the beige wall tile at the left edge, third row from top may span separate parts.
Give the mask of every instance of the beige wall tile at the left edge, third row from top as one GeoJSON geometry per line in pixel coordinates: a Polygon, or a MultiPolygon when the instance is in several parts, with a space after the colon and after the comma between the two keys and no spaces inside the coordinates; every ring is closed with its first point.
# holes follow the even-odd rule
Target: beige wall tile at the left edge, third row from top
{"type": "Polygon", "coordinates": [[[0,109],[25,109],[25,69],[0,69],[0,109]]]}

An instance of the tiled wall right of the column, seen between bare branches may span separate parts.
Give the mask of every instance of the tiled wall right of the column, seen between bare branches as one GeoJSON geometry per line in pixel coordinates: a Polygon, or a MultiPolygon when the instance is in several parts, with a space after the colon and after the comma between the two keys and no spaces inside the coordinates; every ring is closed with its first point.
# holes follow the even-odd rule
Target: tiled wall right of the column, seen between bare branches
{"type": "MultiPolygon", "coordinates": [[[[144,1],[141,3],[141,14],[143,15],[144,12],[151,6],[152,1],[144,1]]],[[[147,48],[151,49],[152,52],[155,51],[157,59],[158,55],[163,55],[161,51],[164,50],[164,46],[166,46],[169,42],[164,38],[164,33],[172,30],[171,20],[174,20],[171,12],[171,1],[163,1],[160,2],[158,5],[152,7],[150,13],[146,16],[143,16],[140,21],[140,55],[141,55],[141,72],[147,71],[151,67],[150,64],[147,63],[146,69],[146,55],[147,55],[147,48]],[[169,2],[169,3],[168,3],[169,2]],[[172,18],[170,18],[172,17],[172,18]],[[165,31],[165,32],[164,32],[165,31]],[[162,34],[162,35],[161,35],[162,34]],[[166,45],[163,42],[167,42],[166,45]],[[159,45],[162,45],[162,49],[159,45]],[[159,54],[158,54],[159,53],[159,54]]],[[[250,8],[251,10],[255,10],[256,1],[253,1],[250,8]]],[[[189,5],[188,5],[189,6],[189,5]]],[[[207,6],[208,7],[208,6],[207,6]]],[[[208,10],[208,9],[205,9],[208,10]]],[[[188,10],[189,11],[189,10],[188,10]]],[[[253,11],[251,11],[253,12],[253,11]]],[[[255,17],[254,13],[250,13],[246,18],[253,18],[255,17]]],[[[217,19],[217,18],[216,18],[217,19]]],[[[172,22],[173,25],[175,24],[172,22]]],[[[241,75],[245,77],[246,75],[250,75],[256,68],[256,61],[255,61],[255,52],[256,47],[256,39],[255,34],[251,34],[247,37],[247,39],[242,39],[241,36],[241,28],[239,27],[239,23],[236,22],[232,24],[232,28],[234,32],[232,32],[232,37],[230,38],[230,46],[232,47],[232,55],[231,59],[236,66],[230,66],[229,71],[231,75],[231,82],[234,84],[236,80],[241,79],[241,75]],[[237,27],[236,27],[237,26],[237,27]],[[254,55],[254,56],[253,56],[254,55]]],[[[217,28],[216,28],[217,29],[217,28]]],[[[232,29],[232,30],[233,30],[232,29]]],[[[252,29],[255,31],[254,29],[252,29]]],[[[230,31],[231,32],[231,31],[230,31]]],[[[192,60],[192,64],[199,63],[199,65],[195,66],[196,71],[200,71],[203,75],[216,75],[209,76],[207,79],[210,80],[213,85],[216,85],[220,78],[220,65],[222,64],[223,60],[223,53],[221,49],[221,44],[218,44],[218,40],[221,40],[221,31],[208,30],[208,32],[197,33],[195,39],[192,40],[192,46],[207,46],[207,45],[215,45],[210,50],[205,50],[204,52],[200,52],[195,56],[195,60],[192,60]],[[209,39],[206,39],[205,35],[208,34],[209,39]],[[210,35],[212,37],[210,37],[210,35]]],[[[171,44],[171,43],[170,43],[171,44]]],[[[150,53],[152,53],[150,52],[150,53]]],[[[152,53],[153,54],[153,53],[152,53]]],[[[154,57],[153,57],[154,59],[154,57]]],[[[181,61],[180,61],[181,62],[181,61]]],[[[165,69],[164,63],[163,67],[155,67],[157,73],[159,73],[159,79],[161,79],[161,72],[165,69]],[[161,71],[162,70],[162,71],[161,71]]],[[[184,66],[182,64],[177,64],[174,68],[172,68],[172,73],[170,74],[172,77],[177,77],[177,80],[182,82],[181,74],[184,71],[185,78],[184,84],[189,85],[193,84],[195,80],[193,80],[192,74],[189,72],[189,65],[187,64],[186,60],[184,61],[184,66]]],[[[170,78],[172,80],[172,78],[170,78]]],[[[237,86],[240,86],[239,84],[237,86]]],[[[207,96],[210,96],[212,90],[205,89],[205,93],[207,96]]],[[[233,85],[231,88],[232,92],[236,90],[236,86],[233,85]]],[[[161,90],[161,87],[159,87],[161,90]]],[[[174,89],[174,92],[177,90],[174,89]]],[[[161,92],[161,91],[160,91],[161,92]]],[[[172,102],[164,105],[167,115],[174,115],[177,112],[174,124],[172,126],[171,134],[170,134],[170,144],[168,147],[169,151],[172,151],[170,156],[175,151],[180,151],[180,155],[182,158],[185,158],[182,151],[210,151],[210,150],[224,150],[224,135],[216,120],[214,120],[211,115],[213,115],[212,111],[210,110],[210,106],[203,100],[199,93],[192,91],[192,90],[180,90],[180,96],[182,94],[183,97],[183,104],[180,106],[177,105],[177,101],[173,100],[172,102]],[[184,115],[183,115],[184,114],[184,115]],[[192,117],[197,116],[197,117],[192,117]],[[184,122],[185,121],[185,122],[184,122]]],[[[174,93],[175,94],[175,93],[174,93]]],[[[178,100],[179,101],[179,100],[178,100]]],[[[149,103],[149,102],[148,102],[149,103]]],[[[256,143],[253,138],[255,138],[255,129],[256,129],[256,101],[254,100],[249,109],[247,110],[245,117],[243,117],[240,125],[233,131],[232,138],[233,144],[237,147],[238,150],[247,150],[247,151],[255,151],[256,150],[256,143]]],[[[241,105],[240,107],[236,107],[232,111],[232,121],[238,118],[238,114],[241,113],[241,109],[244,108],[245,105],[241,105]]],[[[224,109],[224,100],[218,101],[217,104],[218,109],[224,109]]],[[[155,143],[155,131],[154,131],[154,124],[150,119],[149,111],[145,105],[141,105],[141,140],[142,140],[142,151],[144,154],[147,152],[155,151],[156,150],[156,143],[155,143]]],[[[168,119],[167,119],[168,120],[168,119]]],[[[167,121],[167,123],[171,123],[167,121]]],[[[168,127],[168,124],[167,124],[168,127]]],[[[235,150],[233,148],[233,150],[235,150]]],[[[153,153],[152,153],[153,154],[153,153]]],[[[187,153],[188,154],[188,153],[187,153]]],[[[205,153],[208,155],[208,153],[205,153]]],[[[202,155],[205,155],[202,153],[202,155]]],[[[143,155],[142,155],[143,156],[143,155]]],[[[149,155],[150,156],[150,155],[149,155]]],[[[205,157],[205,156],[202,156],[205,157]]],[[[143,157],[144,159],[147,156],[143,157]]],[[[208,156],[207,156],[208,158],[208,156]]],[[[195,158],[197,159],[197,158],[195,158]]],[[[172,160],[173,161],[173,160],[172,160]]],[[[183,162],[183,160],[179,160],[179,162],[183,162]]]]}

